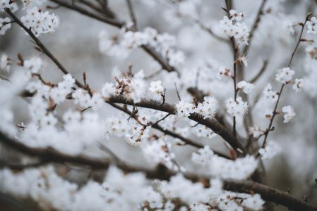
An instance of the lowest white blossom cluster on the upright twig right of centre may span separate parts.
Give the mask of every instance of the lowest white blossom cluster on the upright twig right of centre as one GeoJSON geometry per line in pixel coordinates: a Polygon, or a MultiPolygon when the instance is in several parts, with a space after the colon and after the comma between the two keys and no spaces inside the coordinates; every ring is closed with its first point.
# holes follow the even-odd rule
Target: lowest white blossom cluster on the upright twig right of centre
{"type": "Polygon", "coordinates": [[[242,101],[241,97],[237,97],[237,101],[234,101],[234,98],[229,98],[226,101],[227,113],[234,117],[241,117],[248,110],[248,103],[242,101]]]}

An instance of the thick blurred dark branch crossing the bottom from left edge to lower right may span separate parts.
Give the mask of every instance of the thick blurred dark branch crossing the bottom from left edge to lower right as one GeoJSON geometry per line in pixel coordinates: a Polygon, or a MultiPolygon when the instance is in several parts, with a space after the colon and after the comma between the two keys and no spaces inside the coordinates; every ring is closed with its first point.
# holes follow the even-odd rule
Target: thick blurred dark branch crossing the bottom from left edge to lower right
{"type": "MultiPolygon", "coordinates": [[[[59,153],[52,149],[30,148],[23,143],[9,138],[3,132],[0,132],[0,141],[8,146],[11,146],[12,148],[15,148],[21,153],[47,160],[47,162],[69,162],[71,164],[85,165],[94,169],[104,170],[107,170],[107,168],[111,165],[109,160],[97,160],[83,156],[71,156],[64,153],[59,153]]],[[[172,172],[161,165],[152,170],[146,169],[144,167],[133,167],[130,165],[117,165],[117,167],[126,173],[143,172],[146,177],[148,177],[148,179],[169,180],[169,178],[176,174],[176,172],[172,172]]],[[[208,177],[198,174],[184,174],[184,176],[191,181],[201,181],[201,179],[209,181],[208,177]]],[[[269,186],[265,186],[253,181],[225,181],[224,188],[229,191],[238,191],[241,193],[259,193],[264,200],[284,205],[292,210],[317,211],[316,207],[304,202],[304,200],[299,200],[294,196],[289,195],[287,192],[279,191],[275,188],[270,188],[269,186]]]]}

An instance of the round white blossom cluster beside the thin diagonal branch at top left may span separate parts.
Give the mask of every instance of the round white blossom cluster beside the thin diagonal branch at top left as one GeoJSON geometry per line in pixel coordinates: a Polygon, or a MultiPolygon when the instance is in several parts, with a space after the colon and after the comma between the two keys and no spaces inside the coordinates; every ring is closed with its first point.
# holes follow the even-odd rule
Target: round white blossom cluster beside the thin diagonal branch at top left
{"type": "Polygon", "coordinates": [[[36,37],[39,37],[40,34],[55,32],[59,27],[59,18],[54,13],[42,12],[37,7],[28,9],[21,21],[25,27],[32,30],[36,37]]]}

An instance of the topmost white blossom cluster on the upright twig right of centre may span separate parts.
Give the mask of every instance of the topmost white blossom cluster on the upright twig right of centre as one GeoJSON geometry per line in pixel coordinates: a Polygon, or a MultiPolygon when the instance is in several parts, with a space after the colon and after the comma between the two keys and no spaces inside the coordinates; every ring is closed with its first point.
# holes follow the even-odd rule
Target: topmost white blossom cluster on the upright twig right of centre
{"type": "Polygon", "coordinates": [[[237,13],[234,10],[229,11],[230,17],[224,16],[220,21],[220,28],[222,32],[229,37],[234,37],[238,43],[248,44],[249,40],[249,27],[246,23],[240,21],[244,17],[244,13],[237,13]]]}

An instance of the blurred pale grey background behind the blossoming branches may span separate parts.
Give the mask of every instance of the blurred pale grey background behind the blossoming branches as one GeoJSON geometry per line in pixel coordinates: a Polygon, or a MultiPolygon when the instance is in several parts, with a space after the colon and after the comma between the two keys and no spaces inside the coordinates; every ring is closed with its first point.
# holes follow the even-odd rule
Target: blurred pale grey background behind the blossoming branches
{"type": "MultiPolygon", "coordinates": [[[[153,27],[161,33],[167,32],[177,37],[177,49],[184,51],[186,56],[186,63],[181,70],[182,72],[191,71],[197,63],[210,59],[230,67],[232,53],[229,46],[211,37],[210,34],[201,30],[193,21],[186,18],[173,18],[167,13],[167,10],[171,8],[169,1],[133,0],[132,2],[140,30],[145,27],[153,27]]],[[[251,27],[261,1],[235,0],[233,4],[236,11],[246,12],[245,21],[251,27]]],[[[47,5],[55,6],[52,2],[45,1],[41,7],[46,10],[45,6],[47,5]]],[[[220,20],[225,15],[225,11],[221,8],[224,5],[224,1],[202,0],[198,6],[201,22],[210,26],[218,34],[220,34],[220,29],[217,25],[219,25],[220,20]]],[[[109,0],[109,7],[121,20],[129,20],[126,1],[109,0]]],[[[269,12],[263,15],[263,19],[255,33],[248,54],[249,66],[246,68],[245,74],[246,79],[252,78],[261,69],[263,60],[268,60],[268,68],[261,79],[256,82],[255,93],[261,92],[268,82],[275,83],[275,71],[287,63],[292,49],[294,49],[298,32],[294,36],[283,32],[282,21],[302,22],[309,11],[316,15],[316,7],[316,1],[313,0],[268,0],[265,11],[269,12]]],[[[157,70],[157,64],[141,49],[133,50],[133,53],[124,59],[117,59],[100,53],[98,34],[102,30],[106,30],[109,34],[116,34],[119,32],[117,28],[66,8],[60,7],[47,10],[59,16],[61,25],[53,34],[43,34],[40,40],[74,77],[82,79],[83,72],[86,72],[88,84],[90,84],[92,89],[100,89],[102,84],[112,81],[115,67],[122,72],[126,72],[128,63],[133,64],[133,72],[143,69],[145,70],[145,75],[150,75],[157,70]]],[[[20,17],[24,13],[25,11],[21,10],[17,15],[20,17]]],[[[5,13],[0,13],[0,17],[5,16],[5,13]]],[[[0,54],[6,53],[10,58],[16,58],[18,53],[22,53],[24,58],[39,56],[44,60],[44,68],[42,68],[44,79],[59,82],[62,77],[61,73],[56,70],[54,63],[35,50],[34,46],[30,37],[25,36],[24,32],[16,24],[13,24],[11,30],[8,30],[4,36],[0,37],[0,54]]],[[[307,67],[305,48],[305,44],[301,45],[294,58],[292,69],[297,72],[297,77],[311,77],[310,71],[313,71],[313,69],[310,70],[311,66],[307,67]]],[[[13,67],[11,72],[14,71],[14,68],[18,67],[13,67]]],[[[314,71],[317,71],[316,64],[314,69],[314,71]]],[[[6,72],[1,72],[1,75],[6,74],[6,72]]],[[[9,72],[8,75],[10,74],[9,72]]],[[[161,77],[163,75],[157,75],[156,78],[160,79],[161,77]]],[[[317,83],[317,81],[315,82],[317,83]]],[[[181,79],[181,83],[186,83],[186,81],[181,79]]],[[[211,92],[219,98],[219,101],[225,101],[225,96],[227,95],[225,91],[212,90],[211,92]]],[[[255,94],[253,97],[255,97],[255,94]]],[[[173,103],[176,101],[175,91],[168,91],[167,102],[173,103]]],[[[317,205],[317,183],[315,181],[317,178],[316,103],[316,96],[312,96],[309,91],[294,94],[294,91],[287,89],[283,93],[281,105],[292,105],[297,116],[289,124],[283,124],[282,118],[275,120],[275,131],[270,134],[269,139],[279,143],[282,146],[282,152],[272,160],[264,160],[266,177],[270,186],[289,191],[289,193],[298,198],[306,197],[309,203],[314,205],[317,205]]],[[[63,107],[67,108],[67,106],[69,105],[64,103],[59,109],[62,110],[63,107]]],[[[261,107],[261,105],[257,106],[261,107]]],[[[223,112],[225,109],[220,108],[220,110],[223,112]]],[[[14,102],[14,111],[17,124],[28,122],[30,118],[28,116],[28,100],[17,97],[14,102]]],[[[118,113],[119,111],[114,110],[111,106],[104,106],[100,115],[105,118],[118,115],[118,113]]],[[[253,110],[253,116],[257,118],[256,108],[253,110]]],[[[220,150],[224,149],[223,143],[217,139],[209,143],[204,140],[198,141],[215,146],[215,148],[220,150]]],[[[107,143],[107,146],[112,148],[114,153],[117,153],[123,160],[150,166],[150,163],[145,162],[143,156],[140,155],[140,151],[128,145],[124,140],[112,139],[112,141],[107,143]]],[[[191,159],[193,148],[176,147],[174,151],[177,154],[177,161],[181,165],[192,170],[202,171],[198,166],[188,162],[191,159]]],[[[88,154],[98,156],[95,155],[95,152],[94,147],[87,149],[88,154]]],[[[11,154],[13,154],[12,158],[16,159],[16,154],[13,151],[5,147],[0,148],[0,158],[8,158],[11,154]]],[[[101,155],[103,154],[101,153],[101,155]]],[[[80,183],[85,181],[91,172],[83,170],[64,171],[61,168],[59,173],[71,181],[80,183]]],[[[100,172],[94,173],[101,174],[100,172]]],[[[37,205],[30,202],[30,200],[21,202],[20,199],[0,194],[0,210],[37,210],[37,205]]],[[[287,209],[277,206],[276,210],[287,209]]]]}

